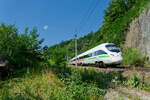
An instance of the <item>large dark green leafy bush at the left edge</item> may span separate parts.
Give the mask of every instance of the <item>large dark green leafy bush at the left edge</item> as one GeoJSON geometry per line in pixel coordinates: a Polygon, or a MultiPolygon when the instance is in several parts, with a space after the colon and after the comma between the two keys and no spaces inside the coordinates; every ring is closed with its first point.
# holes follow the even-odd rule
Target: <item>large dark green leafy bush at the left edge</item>
{"type": "MultiPolygon", "coordinates": [[[[41,43],[37,29],[25,29],[19,33],[14,25],[0,25],[0,54],[3,55],[12,69],[36,67],[42,61],[41,43]]],[[[13,70],[15,71],[15,70],[13,70]]]]}

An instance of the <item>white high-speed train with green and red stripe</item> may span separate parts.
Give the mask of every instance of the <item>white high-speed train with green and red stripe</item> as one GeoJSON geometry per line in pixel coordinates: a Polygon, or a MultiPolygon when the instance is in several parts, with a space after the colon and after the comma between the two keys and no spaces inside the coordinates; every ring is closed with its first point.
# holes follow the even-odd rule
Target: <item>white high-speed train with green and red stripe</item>
{"type": "Polygon", "coordinates": [[[75,65],[95,64],[97,66],[118,65],[123,62],[122,52],[113,43],[103,43],[77,57],[72,58],[69,63],[75,65]]]}

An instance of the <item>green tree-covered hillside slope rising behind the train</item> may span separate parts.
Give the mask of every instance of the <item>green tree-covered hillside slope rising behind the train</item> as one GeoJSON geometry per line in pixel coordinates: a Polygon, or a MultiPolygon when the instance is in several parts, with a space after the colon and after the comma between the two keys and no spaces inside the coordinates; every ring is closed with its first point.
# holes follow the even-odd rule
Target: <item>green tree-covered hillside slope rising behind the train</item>
{"type": "MultiPolygon", "coordinates": [[[[78,39],[78,54],[95,47],[98,44],[112,42],[123,46],[130,23],[142,13],[148,0],[112,0],[105,10],[102,27],[95,33],[89,33],[78,39]]],[[[128,40],[127,40],[128,41],[128,40]]],[[[61,42],[49,47],[49,52],[63,49],[69,58],[74,57],[74,40],[61,42]]],[[[65,56],[64,56],[65,58],[65,56]]]]}

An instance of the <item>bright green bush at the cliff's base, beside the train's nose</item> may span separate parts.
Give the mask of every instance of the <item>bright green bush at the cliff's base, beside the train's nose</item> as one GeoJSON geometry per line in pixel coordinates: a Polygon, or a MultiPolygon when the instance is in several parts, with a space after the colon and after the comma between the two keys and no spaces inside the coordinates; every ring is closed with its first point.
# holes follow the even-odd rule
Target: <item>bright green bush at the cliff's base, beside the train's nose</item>
{"type": "Polygon", "coordinates": [[[124,65],[144,66],[147,57],[141,57],[138,50],[132,48],[123,49],[124,65]]]}

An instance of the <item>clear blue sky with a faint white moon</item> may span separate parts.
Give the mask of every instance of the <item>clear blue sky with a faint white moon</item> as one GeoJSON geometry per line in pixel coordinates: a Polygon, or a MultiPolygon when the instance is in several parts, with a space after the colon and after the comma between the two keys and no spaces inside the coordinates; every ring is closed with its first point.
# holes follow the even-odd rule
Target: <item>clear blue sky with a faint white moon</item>
{"type": "Polygon", "coordinates": [[[15,24],[22,33],[25,27],[38,28],[43,45],[54,45],[102,25],[104,9],[110,0],[0,0],[0,22],[15,24]]]}

